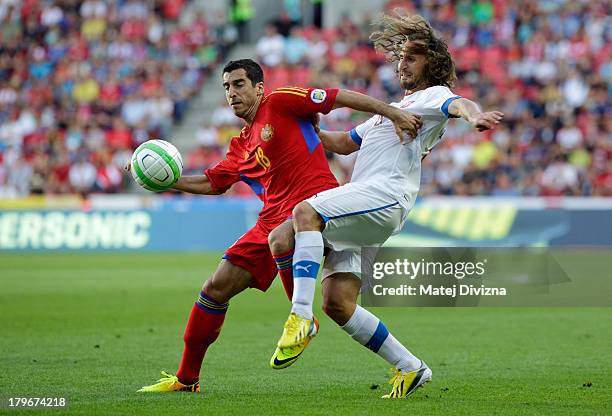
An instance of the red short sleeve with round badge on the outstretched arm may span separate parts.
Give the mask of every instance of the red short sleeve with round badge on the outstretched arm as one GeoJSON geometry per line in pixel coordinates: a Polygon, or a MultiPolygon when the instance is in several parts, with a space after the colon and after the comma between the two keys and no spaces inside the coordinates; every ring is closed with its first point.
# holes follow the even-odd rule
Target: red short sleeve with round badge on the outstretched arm
{"type": "Polygon", "coordinates": [[[336,102],[337,88],[278,88],[268,95],[268,100],[298,118],[310,118],[317,113],[329,113],[336,102]]]}

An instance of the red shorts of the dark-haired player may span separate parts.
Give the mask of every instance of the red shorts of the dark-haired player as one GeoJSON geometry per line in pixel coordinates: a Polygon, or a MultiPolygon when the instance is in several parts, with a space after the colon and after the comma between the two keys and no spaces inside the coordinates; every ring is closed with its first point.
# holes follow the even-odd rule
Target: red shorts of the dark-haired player
{"type": "Polygon", "coordinates": [[[223,258],[234,266],[242,267],[251,273],[253,282],[250,287],[262,292],[268,290],[278,273],[276,262],[268,246],[270,231],[267,228],[258,221],[223,255],[223,258]]]}

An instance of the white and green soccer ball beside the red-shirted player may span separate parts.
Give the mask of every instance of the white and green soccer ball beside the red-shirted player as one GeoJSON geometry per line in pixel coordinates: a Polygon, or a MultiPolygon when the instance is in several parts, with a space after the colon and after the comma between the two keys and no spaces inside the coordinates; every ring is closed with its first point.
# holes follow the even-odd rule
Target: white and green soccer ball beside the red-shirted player
{"type": "Polygon", "coordinates": [[[148,140],[132,155],[131,172],[138,185],[153,192],[170,188],[183,173],[183,158],[165,140],[148,140]]]}

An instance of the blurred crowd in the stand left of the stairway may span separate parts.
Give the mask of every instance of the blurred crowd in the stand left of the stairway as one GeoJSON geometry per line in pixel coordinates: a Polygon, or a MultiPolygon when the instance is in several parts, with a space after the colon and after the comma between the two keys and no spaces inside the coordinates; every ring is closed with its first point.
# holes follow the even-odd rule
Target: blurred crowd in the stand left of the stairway
{"type": "Polygon", "coordinates": [[[132,150],[167,137],[235,40],[187,5],[0,1],[0,198],[125,187],[132,150]]]}

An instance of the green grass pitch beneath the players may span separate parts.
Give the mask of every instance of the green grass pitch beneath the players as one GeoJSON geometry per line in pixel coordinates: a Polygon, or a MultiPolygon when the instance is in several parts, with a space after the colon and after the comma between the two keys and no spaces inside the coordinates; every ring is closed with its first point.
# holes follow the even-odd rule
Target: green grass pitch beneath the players
{"type": "Polygon", "coordinates": [[[160,370],[176,371],[187,316],[218,258],[0,255],[3,406],[9,396],[57,396],[69,407],[49,411],[86,415],[612,412],[612,309],[378,308],[433,370],[409,399],[385,401],[387,364],[322,312],[300,360],[268,367],[289,312],[278,283],[230,303],[202,394],[137,394],[160,370]]]}

